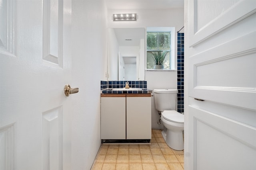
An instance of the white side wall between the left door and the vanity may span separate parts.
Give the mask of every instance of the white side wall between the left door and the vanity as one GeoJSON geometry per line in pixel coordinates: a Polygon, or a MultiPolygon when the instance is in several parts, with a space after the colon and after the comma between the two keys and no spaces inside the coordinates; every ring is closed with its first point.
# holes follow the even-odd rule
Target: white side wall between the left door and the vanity
{"type": "MultiPolygon", "coordinates": [[[[90,170],[100,147],[100,80],[106,58],[104,1],[72,1],[72,169],[90,170]]],[[[68,82],[67,82],[68,83],[68,82]]],[[[64,144],[65,145],[65,144],[64,144]]]]}

